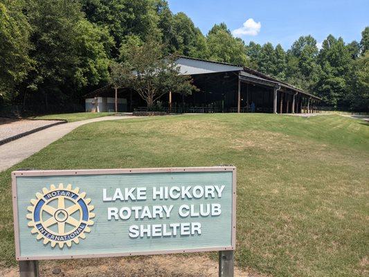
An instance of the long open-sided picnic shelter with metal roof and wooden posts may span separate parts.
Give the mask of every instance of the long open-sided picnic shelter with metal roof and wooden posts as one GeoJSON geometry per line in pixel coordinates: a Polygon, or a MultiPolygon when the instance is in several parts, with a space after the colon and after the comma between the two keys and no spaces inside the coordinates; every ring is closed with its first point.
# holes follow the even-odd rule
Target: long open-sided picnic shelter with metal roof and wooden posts
{"type": "MultiPolygon", "coordinates": [[[[198,91],[181,95],[172,91],[161,97],[165,110],[172,113],[317,112],[321,98],[265,75],[249,67],[179,56],[180,74],[190,75],[198,91]]],[[[114,89],[106,86],[86,96],[86,109],[99,111],[89,103],[114,98],[114,89]]],[[[118,91],[118,111],[143,111],[145,102],[132,89],[118,91]],[[119,106],[119,105],[118,105],[119,106]]],[[[107,111],[114,110],[113,107],[107,111]]]]}

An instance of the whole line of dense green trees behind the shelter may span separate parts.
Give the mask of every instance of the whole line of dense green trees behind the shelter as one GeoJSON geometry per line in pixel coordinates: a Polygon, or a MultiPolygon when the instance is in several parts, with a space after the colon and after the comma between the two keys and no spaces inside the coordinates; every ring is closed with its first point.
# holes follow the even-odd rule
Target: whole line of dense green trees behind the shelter
{"type": "Polygon", "coordinates": [[[109,83],[109,64],[132,44],[156,39],[163,55],[244,64],[321,96],[325,105],[369,106],[369,27],[360,42],[329,35],[321,49],[311,36],[286,52],[280,45],[246,45],[226,24],[203,35],[165,0],[0,0],[0,105],[45,111],[70,107],[109,83]]]}

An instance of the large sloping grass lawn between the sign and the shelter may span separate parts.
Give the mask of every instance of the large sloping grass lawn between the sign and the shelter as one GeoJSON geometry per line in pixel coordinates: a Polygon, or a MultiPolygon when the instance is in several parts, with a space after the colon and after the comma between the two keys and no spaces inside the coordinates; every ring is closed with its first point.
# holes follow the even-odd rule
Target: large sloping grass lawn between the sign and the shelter
{"type": "Polygon", "coordinates": [[[237,266],[272,276],[368,276],[369,125],[334,115],[163,116],[79,127],[0,174],[1,262],[15,264],[12,170],[220,164],[237,166],[237,266]]]}

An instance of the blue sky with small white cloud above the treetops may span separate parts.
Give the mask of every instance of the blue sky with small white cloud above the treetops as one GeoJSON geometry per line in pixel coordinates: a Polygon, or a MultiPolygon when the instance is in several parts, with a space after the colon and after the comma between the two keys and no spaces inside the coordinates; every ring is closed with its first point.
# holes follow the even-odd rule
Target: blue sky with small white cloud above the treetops
{"type": "Polygon", "coordinates": [[[327,37],[360,41],[369,26],[369,0],[168,0],[173,13],[185,12],[206,35],[225,22],[233,35],[259,44],[281,44],[286,50],[301,35],[318,46],[327,37]]]}

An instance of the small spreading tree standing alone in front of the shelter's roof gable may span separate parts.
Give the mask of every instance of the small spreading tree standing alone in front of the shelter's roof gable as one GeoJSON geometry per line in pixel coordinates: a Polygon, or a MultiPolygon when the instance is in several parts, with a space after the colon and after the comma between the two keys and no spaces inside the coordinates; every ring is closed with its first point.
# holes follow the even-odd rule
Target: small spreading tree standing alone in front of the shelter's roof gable
{"type": "Polygon", "coordinates": [[[188,75],[180,75],[174,56],[163,55],[164,46],[150,38],[143,45],[127,49],[127,58],[120,71],[120,80],[134,89],[152,109],[165,93],[190,94],[195,87],[188,75]]]}

